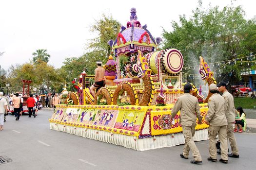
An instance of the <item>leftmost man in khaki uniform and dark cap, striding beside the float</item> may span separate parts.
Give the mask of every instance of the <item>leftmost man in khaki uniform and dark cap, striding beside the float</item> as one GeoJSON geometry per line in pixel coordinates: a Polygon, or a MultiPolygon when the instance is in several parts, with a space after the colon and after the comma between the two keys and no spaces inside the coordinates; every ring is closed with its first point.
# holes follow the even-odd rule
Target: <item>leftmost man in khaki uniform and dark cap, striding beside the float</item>
{"type": "Polygon", "coordinates": [[[180,96],[172,109],[172,117],[180,110],[180,124],[182,125],[182,131],[185,138],[185,146],[183,153],[180,157],[188,159],[189,150],[191,149],[194,160],[190,161],[192,164],[201,164],[202,157],[197,149],[197,146],[193,140],[195,135],[195,127],[197,118],[199,124],[201,124],[202,116],[200,115],[200,107],[195,96],[190,94],[192,85],[187,83],[184,85],[184,95],[180,96]]]}

